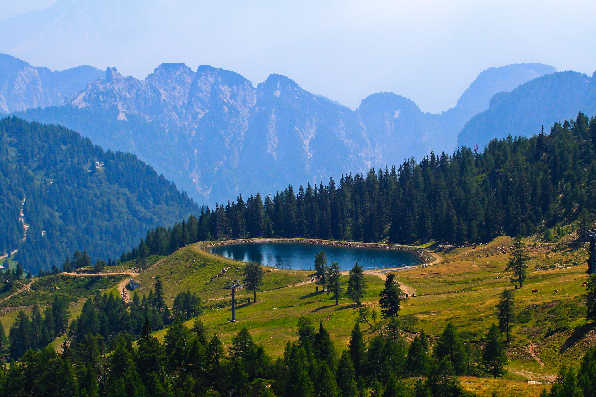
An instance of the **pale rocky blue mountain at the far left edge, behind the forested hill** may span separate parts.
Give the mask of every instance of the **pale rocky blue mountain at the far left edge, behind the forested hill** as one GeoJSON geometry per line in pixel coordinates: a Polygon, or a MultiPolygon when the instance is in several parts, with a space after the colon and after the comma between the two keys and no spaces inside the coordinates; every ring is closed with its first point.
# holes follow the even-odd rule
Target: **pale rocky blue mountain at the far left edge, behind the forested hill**
{"type": "Polygon", "coordinates": [[[64,96],[72,97],[102,76],[103,71],[91,66],[51,71],[0,54],[0,112],[63,105],[64,96]]]}

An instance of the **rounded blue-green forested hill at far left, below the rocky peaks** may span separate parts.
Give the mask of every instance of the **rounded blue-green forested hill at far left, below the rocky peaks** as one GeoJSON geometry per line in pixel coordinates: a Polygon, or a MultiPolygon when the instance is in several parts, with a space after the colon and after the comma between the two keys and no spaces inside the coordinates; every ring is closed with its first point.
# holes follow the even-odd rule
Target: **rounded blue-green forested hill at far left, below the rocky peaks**
{"type": "Polygon", "coordinates": [[[106,152],[64,127],[0,120],[0,251],[18,248],[32,273],[76,249],[114,258],[147,229],[197,210],[132,154],[106,152]]]}

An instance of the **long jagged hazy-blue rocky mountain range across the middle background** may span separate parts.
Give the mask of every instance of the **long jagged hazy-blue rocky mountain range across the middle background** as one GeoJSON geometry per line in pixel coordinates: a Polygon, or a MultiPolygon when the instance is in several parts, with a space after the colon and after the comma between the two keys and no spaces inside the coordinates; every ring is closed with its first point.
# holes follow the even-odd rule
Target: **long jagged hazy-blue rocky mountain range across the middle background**
{"type": "MultiPolygon", "coordinates": [[[[13,68],[0,79],[16,81],[30,68],[13,68]]],[[[233,71],[209,65],[193,71],[179,63],[159,65],[144,80],[110,67],[61,106],[48,108],[27,106],[33,102],[27,93],[35,90],[8,83],[2,89],[21,93],[5,100],[7,110],[132,152],[198,202],[213,204],[401,164],[431,150],[450,153],[465,122],[489,108],[495,93],[554,71],[543,64],[489,68],[441,114],[423,112],[395,93],[370,95],[353,111],[278,74],[254,87],[233,71]]]]}

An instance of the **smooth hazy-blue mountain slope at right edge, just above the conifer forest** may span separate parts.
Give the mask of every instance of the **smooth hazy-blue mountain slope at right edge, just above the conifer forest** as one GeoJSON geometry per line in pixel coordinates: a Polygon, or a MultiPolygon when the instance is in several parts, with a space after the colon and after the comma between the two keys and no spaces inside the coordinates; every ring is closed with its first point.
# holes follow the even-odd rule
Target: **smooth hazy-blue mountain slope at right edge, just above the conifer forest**
{"type": "Polygon", "coordinates": [[[538,77],[511,92],[496,93],[491,106],[468,121],[458,146],[482,148],[493,138],[532,136],[541,126],[568,118],[575,112],[596,114],[596,72],[592,77],[560,71],[538,77]]]}

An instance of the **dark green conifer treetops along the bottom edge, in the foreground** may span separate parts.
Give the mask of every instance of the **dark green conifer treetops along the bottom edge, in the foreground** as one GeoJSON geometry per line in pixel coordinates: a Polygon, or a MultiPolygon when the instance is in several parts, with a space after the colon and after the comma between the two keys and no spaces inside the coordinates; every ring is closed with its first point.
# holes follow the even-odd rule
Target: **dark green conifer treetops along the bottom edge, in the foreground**
{"type": "MultiPolygon", "coordinates": [[[[412,342],[403,337],[398,317],[390,317],[365,342],[358,322],[343,351],[337,352],[322,321],[297,321],[297,339],[287,342],[276,360],[254,342],[244,327],[228,348],[217,333],[207,335],[197,318],[189,329],[176,317],[163,343],[142,323],[134,347],[120,335],[111,346],[100,331],[64,343],[60,353],[48,347],[29,349],[21,361],[0,365],[3,396],[238,396],[238,397],[447,397],[473,396],[458,376],[504,374],[504,346],[493,324],[481,340],[464,341],[448,323],[431,346],[422,330],[412,342]],[[107,354],[108,349],[111,354],[107,354]],[[403,379],[419,377],[408,386],[403,379]],[[422,379],[421,377],[426,377],[422,379]]],[[[543,397],[596,395],[596,349],[579,368],[563,367],[543,397]]]]}

